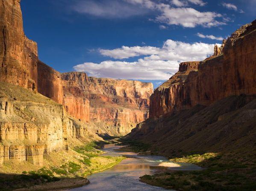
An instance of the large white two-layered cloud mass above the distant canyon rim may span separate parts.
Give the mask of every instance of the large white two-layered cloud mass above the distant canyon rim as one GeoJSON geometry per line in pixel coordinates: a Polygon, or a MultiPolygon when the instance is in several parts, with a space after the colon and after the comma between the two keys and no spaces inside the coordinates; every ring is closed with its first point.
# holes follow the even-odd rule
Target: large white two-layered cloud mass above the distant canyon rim
{"type": "Polygon", "coordinates": [[[100,49],[100,54],[114,59],[142,56],[135,62],[104,61],[83,63],[74,66],[76,71],[85,71],[95,77],[110,77],[136,80],[167,80],[175,74],[179,63],[188,60],[203,60],[213,54],[215,44],[184,43],[167,40],[164,45],[122,46],[113,50],[100,49]]]}

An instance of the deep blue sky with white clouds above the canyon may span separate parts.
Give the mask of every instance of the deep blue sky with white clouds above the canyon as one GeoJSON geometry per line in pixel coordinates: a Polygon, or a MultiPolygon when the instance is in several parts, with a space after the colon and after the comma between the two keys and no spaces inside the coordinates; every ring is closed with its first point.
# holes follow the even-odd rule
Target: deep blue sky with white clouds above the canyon
{"type": "Polygon", "coordinates": [[[60,72],[152,82],[213,54],[256,0],[21,0],[39,59],[60,72]]]}

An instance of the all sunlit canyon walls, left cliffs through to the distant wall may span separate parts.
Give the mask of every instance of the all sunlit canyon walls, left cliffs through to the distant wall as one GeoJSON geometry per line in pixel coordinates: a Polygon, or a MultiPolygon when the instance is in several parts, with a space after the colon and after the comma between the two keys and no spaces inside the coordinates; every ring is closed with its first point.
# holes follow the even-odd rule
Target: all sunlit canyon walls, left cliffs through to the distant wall
{"type": "Polygon", "coordinates": [[[0,3],[0,163],[43,165],[44,154],[128,134],[147,119],[151,83],[61,74],[38,59],[20,0],[0,3]]]}

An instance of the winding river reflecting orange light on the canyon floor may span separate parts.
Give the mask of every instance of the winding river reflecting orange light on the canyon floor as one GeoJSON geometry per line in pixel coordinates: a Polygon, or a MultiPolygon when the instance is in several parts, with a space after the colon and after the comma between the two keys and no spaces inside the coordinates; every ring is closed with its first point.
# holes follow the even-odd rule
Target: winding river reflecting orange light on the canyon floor
{"type": "Polygon", "coordinates": [[[160,167],[158,165],[161,162],[168,161],[166,157],[141,156],[133,152],[114,150],[120,147],[109,144],[101,150],[106,152],[103,154],[105,156],[126,156],[127,159],[105,171],[88,175],[90,184],[68,191],[162,191],[165,189],[140,182],[139,177],[170,170],[200,170],[197,165],[187,163],[179,163],[181,167],[160,167]]]}

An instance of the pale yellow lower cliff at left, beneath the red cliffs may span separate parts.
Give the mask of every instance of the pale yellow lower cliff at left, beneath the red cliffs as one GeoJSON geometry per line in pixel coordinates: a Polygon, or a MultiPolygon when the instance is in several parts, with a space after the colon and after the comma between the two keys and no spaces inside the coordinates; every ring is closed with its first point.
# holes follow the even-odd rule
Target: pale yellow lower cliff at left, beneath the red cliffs
{"type": "Polygon", "coordinates": [[[68,137],[95,138],[88,129],[53,100],[20,86],[0,83],[0,164],[26,160],[42,165],[43,154],[68,150],[68,137]]]}

